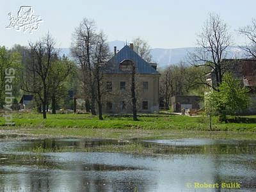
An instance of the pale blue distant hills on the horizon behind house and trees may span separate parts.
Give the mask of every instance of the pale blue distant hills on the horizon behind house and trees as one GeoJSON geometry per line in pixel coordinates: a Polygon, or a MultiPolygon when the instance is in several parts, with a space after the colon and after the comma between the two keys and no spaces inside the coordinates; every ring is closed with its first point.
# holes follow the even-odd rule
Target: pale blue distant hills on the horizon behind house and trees
{"type": "MultiPolygon", "coordinates": [[[[109,50],[113,52],[114,46],[117,47],[117,50],[120,50],[124,47],[126,42],[115,40],[113,42],[108,42],[109,50]]],[[[128,44],[128,43],[127,43],[128,44]]],[[[177,65],[180,61],[186,61],[186,56],[188,52],[195,51],[196,47],[184,47],[184,48],[173,48],[173,49],[162,49],[154,48],[150,49],[152,58],[154,62],[158,64],[159,67],[166,67],[167,65],[177,65]]],[[[65,56],[71,56],[70,48],[61,48],[61,54],[65,56]]],[[[245,54],[243,49],[238,46],[228,47],[228,56],[227,58],[244,58],[245,54]]]]}

